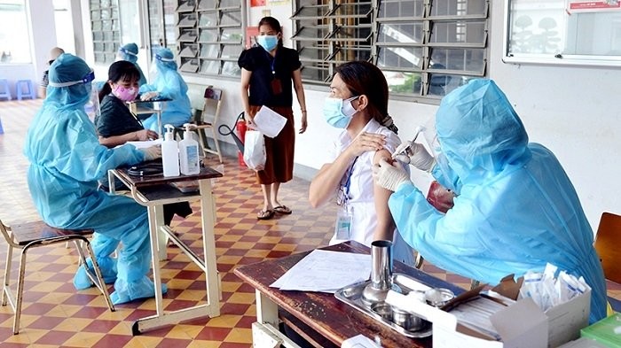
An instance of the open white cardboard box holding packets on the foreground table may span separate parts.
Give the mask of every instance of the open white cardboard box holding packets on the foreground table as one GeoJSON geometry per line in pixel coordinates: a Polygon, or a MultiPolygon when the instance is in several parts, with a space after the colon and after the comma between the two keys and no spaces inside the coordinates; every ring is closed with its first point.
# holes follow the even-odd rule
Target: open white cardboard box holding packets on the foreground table
{"type": "MultiPolygon", "coordinates": [[[[507,298],[517,298],[522,281],[515,282],[513,275],[507,276],[494,291],[507,298]]],[[[478,296],[483,285],[469,290],[447,305],[458,304],[478,296]]],[[[386,301],[421,316],[433,323],[434,348],[482,347],[482,348],[536,348],[557,347],[578,338],[580,329],[588,324],[591,308],[591,291],[570,301],[542,312],[531,298],[523,298],[491,316],[491,323],[497,329],[501,341],[468,329],[457,322],[457,318],[436,307],[409,300],[396,292],[389,292],[386,301]]]]}

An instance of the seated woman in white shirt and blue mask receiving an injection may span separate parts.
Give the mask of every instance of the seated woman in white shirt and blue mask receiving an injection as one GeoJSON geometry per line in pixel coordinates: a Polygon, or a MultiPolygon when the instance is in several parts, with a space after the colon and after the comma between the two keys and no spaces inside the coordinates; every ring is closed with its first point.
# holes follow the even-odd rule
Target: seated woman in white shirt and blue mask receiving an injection
{"type": "Polygon", "coordinates": [[[330,89],[324,116],[328,124],[343,131],[334,146],[334,161],[322,166],[311,182],[311,205],[323,205],[338,193],[342,209],[331,244],[355,240],[370,246],[375,240],[393,241],[395,259],[413,266],[413,249],[395,233],[388,207],[390,191],[373,184],[373,164],[390,159],[401,143],[388,114],[388,83],[373,64],[354,61],[336,67],[330,89]]]}

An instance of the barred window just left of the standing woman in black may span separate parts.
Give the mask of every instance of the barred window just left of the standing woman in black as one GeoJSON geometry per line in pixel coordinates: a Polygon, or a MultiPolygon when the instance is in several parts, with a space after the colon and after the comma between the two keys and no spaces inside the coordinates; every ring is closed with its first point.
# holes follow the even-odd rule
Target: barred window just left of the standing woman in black
{"type": "Polygon", "coordinates": [[[240,1],[179,1],[176,27],[182,72],[240,76],[240,1]]]}

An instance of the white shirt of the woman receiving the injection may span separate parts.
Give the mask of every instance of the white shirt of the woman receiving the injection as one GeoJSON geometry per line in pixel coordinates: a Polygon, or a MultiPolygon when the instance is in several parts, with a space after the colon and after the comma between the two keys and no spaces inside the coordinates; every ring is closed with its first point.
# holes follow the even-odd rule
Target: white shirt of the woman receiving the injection
{"type": "MultiPolygon", "coordinates": [[[[370,120],[362,130],[367,133],[386,135],[384,148],[392,153],[401,143],[399,137],[389,128],[380,125],[376,120],[370,120]]],[[[343,131],[334,143],[333,160],[344,151],[353,139],[343,131]]],[[[352,213],[350,240],[365,244],[370,247],[373,242],[373,232],[377,226],[377,214],[375,213],[375,203],[373,200],[373,157],[374,151],[366,151],[358,157],[354,164],[350,178],[350,212],[352,213]]],[[[348,170],[349,173],[349,170],[348,170]]],[[[347,175],[347,173],[345,174],[347,175]]],[[[344,182],[344,180],[343,180],[344,182]]],[[[345,242],[333,236],[330,244],[345,242]]],[[[399,235],[397,229],[393,236],[393,259],[404,262],[406,265],[413,266],[413,249],[399,235]]]]}

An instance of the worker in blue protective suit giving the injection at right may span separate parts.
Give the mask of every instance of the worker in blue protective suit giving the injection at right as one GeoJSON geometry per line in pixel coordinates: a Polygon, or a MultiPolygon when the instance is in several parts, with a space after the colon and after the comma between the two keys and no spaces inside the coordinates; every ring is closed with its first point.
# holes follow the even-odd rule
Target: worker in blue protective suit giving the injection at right
{"type": "Polygon", "coordinates": [[[397,229],[437,267],[482,282],[543,271],[551,263],[591,287],[589,322],[606,316],[606,285],[593,230],[554,154],[529,143],[522,121],[491,80],[453,90],[436,112],[432,157],[420,143],[406,160],[457,195],[447,213],[429,205],[400,166],[381,162],[375,180],[394,191],[397,229]],[[409,159],[407,159],[409,157],[409,159]]]}

